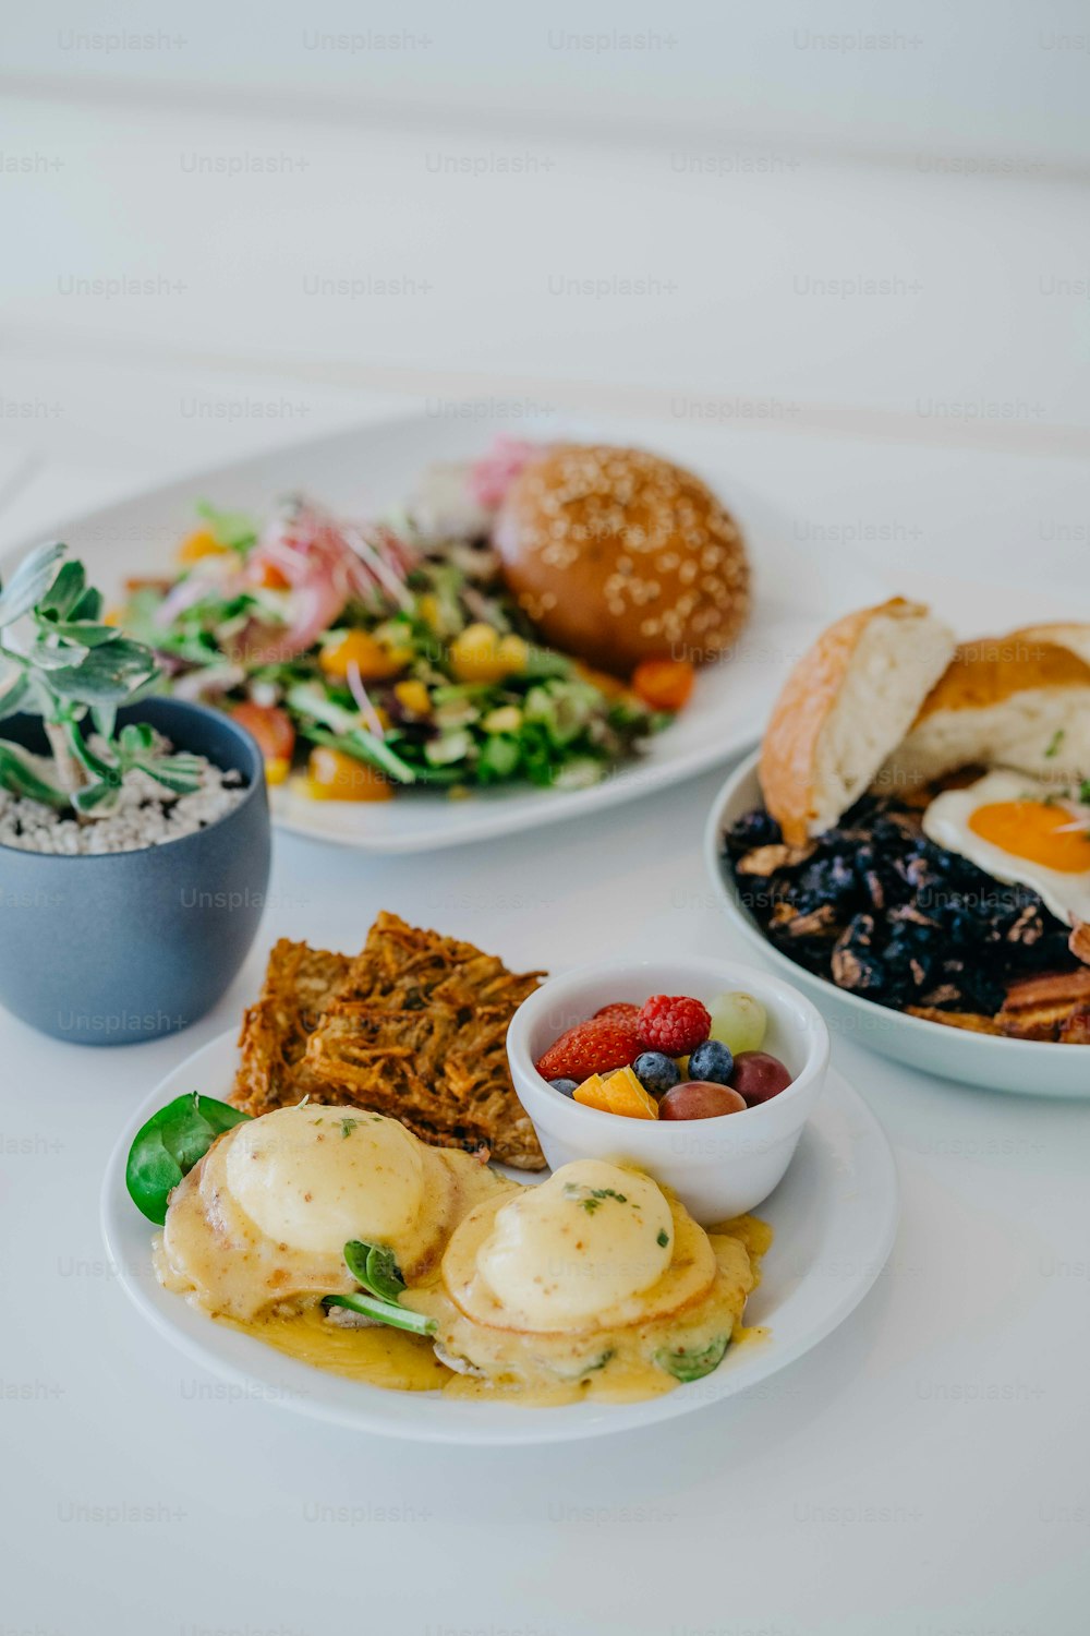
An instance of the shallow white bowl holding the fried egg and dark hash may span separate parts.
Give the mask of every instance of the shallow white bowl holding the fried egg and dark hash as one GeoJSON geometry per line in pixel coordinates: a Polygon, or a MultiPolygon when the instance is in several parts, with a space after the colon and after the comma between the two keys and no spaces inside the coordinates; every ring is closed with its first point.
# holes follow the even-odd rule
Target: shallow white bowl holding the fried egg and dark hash
{"type": "Polygon", "coordinates": [[[730,926],[765,965],[809,995],[833,1034],[843,1034],[894,1062],[907,1062],[923,1073],[979,1085],[989,1091],[1070,1096],[1080,1101],[1090,1098],[1088,1045],[1002,1039],[997,1034],[972,1034],[969,1029],[930,1022],[927,1018],[910,1018],[904,1011],[837,988],[776,949],[750,915],[721,861],[724,833],[742,813],[762,803],[757,767],[758,756],[750,756],[734,769],[716,795],[704,828],[704,867],[730,926]]]}

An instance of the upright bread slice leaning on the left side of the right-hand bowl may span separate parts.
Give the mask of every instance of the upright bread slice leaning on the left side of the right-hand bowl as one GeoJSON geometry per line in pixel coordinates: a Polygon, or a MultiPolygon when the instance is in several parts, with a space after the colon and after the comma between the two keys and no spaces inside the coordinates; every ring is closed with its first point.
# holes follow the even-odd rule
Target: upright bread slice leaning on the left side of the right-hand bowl
{"type": "Polygon", "coordinates": [[[765,805],[789,846],[863,795],[943,674],[953,631],[894,597],[837,620],[786,681],[765,733],[765,805]]]}

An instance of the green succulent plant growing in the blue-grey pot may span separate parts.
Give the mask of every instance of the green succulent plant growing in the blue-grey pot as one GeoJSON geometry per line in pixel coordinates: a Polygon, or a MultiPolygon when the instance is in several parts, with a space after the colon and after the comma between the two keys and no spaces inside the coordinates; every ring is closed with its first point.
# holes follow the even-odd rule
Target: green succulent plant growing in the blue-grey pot
{"type": "Polygon", "coordinates": [[[155,654],[103,618],[103,597],[64,545],[41,545],[0,589],[0,720],[39,715],[54,777],[0,738],[0,785],[15,795],[72,810],[80,821],[118,803],[124,779],[141,771],[175,795],[199,785],[199,761],[162,754],[144,723],[116,728],[118,710],[159,681],[155,654]],[[96,739],[92,743],[92,733],[96,739]]]}

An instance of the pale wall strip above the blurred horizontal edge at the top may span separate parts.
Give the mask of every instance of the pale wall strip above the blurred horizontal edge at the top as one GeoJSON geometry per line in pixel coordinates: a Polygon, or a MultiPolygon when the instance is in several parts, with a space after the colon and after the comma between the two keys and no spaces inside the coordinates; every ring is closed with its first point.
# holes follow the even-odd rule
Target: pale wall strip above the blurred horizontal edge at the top
{"type": "Polygon", "coordinates": [[[10,8],[10,83],[1090,162],[1079,0],[10,8]],[[127,36],[127,39],[121,39],[127,36]],[[136,36],[136,38],[134,38],[136,36]]]}

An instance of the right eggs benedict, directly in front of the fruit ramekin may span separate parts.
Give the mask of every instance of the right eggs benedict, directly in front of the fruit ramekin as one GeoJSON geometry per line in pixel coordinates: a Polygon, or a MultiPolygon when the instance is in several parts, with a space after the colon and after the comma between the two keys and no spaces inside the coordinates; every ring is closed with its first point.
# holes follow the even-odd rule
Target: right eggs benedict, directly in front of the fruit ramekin
{"type": "Polygon", "coordinates": [[[405,1304],[461,1391],[626,1399],[711,1373],[755,1283],[742,1237],[708,1235],[650,1176],[577,1160],[477,1204],[405,1304]]]}

